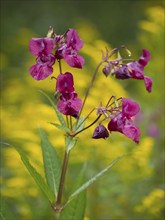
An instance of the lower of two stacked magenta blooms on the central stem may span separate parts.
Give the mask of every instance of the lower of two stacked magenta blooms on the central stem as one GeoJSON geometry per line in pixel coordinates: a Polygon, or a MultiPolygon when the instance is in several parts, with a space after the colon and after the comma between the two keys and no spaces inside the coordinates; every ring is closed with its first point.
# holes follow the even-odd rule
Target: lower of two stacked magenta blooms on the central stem
{"type": "Polygon", "coordinates": [[[58,110],[64,115],[76,116],[82,107],[81,99],[77,98],[77,93],[65,93],[60,96],[57,104],[58,110]]]}

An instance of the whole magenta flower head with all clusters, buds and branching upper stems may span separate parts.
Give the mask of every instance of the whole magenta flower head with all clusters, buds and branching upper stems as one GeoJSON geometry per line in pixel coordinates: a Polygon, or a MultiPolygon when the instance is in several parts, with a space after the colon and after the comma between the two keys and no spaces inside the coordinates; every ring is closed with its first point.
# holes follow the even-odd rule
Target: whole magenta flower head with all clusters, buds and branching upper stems
{"type": "MultiPolygon", "coordinates": [[[[62,73],[61,60],[63,59],[69,66],[74,68],[82,68],[84,65],[84,58],[78,55],[79,50],[83,46],[83,41],[78,36],[74,29],[69,29],[63,35],[56,34],[53,29],[50,29],[46,38],[32,38],[29,43],[29,49],[32,55],[36,56],[36,64],[30,67],[30,74],[36,80],[43,80],[53,73],[53,65],[56,60],[59,64],[60,73],[56,79],[56,94],[59,94],[57,108],[59,112],[68,116],[72,116],[78,120],[81,116],[86,99],[89,95],[89,90],[98,73],[98,69],[102,64],[104,75],[114,75],[116,79],[140,79],[144,80],[146,90],[151,92],[152,79],[143,74],[144,67],[150,60],[150,53],[143,49],[142,55],[137,61],[132,59],[122,58],[118,48],[106,53],[103,52],[102,60],[94,71],[93,78],[84,98],[84,101],[78,98],[78,94],[74,89],[74,79],[70,72],[62,73]],[[116,59],[111,59],[112,55],[116,55],[116,59]]],[[[130,51],[125,47],[126,52],[130,56],[130,51]]],[[[68,122],[68,127],[71,128],[70,137],[74,137],[85,129],[94,125],[100,118],[103,118],[99,125],[95,128],[93,133],[94,139],[108,138],[111,132],[120,132],[132,139],[135,143],[139,143],[140,129],[134,124],[133,117],[138,114],[140,107],[138,103],[129,98],[119,98],[116,100],[114,96],[108,101],[106,107],[97,107],[97,118],[87,127],[82,130],[72,130],[72,123],[68,122]],[[111,101],[113,102],[111,103],[111,101]],[[103,121],[108,120],[107,128],[102,124],[103,121]]],[[[93,110],[85,117],[85,122],[93,110]]]]}

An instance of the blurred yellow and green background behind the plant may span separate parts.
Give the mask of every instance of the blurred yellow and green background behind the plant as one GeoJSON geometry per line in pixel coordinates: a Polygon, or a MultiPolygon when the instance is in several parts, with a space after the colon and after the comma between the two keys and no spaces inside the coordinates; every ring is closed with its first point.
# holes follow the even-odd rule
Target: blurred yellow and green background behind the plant
{"type": "MultiPolygon", "coordinates": [[[[48,122],[56,116],[42,89],[53,97],[54,80],[35,81],[29,67],[35,62],[28,50],[32,37],[44,37],[49,26],[59,34],[76,28],[84,41],[83,70],[64,71],[75,76],[75,87],[83,97],[101,50],[126,45],[134,59],[142,48],[151,53],[145,74],[153,79],[148,94],[142,81],[117,81],[99,72],[84,114],[110,96],[130,97],[139,102],[140,144],[120,134],[107,140],[93,140],[93,128],[79,136],[72,150],[66,194],[84,162],[89,178],[114,158],[130,153],[87,193],[85,219],[164,219],[164,4],[159,0],[1,0],[1,139],[21,147],[43,174],[38,126],[45,129],[62,158],[64,137],[48,122]]],[[[58,74],[55,66],[54,75],[58,74]]],[[[94,116],[91,117],[91,121],[94,116]]],[[[89,121],[90,123],[90,121],[89,121]]],[[[1,219],[48,220],[54,213],[42,192],[24,168],[12,147],[1,147],[1,219]]]]}

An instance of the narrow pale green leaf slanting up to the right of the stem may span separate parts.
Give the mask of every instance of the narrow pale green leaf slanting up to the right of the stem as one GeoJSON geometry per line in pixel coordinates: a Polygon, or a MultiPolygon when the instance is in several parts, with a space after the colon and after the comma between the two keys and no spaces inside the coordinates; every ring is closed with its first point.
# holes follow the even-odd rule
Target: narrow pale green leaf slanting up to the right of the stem
{"type": "Polygon", "coordinates": [[[84,183],[80,188],[78,188],[74,193],[71,194],[71,196],[68,199],[68,202],[66,203],[69,204],[75,196],[77,196],[79,193],[81,193],[83,190],[87,189],[92,183],[94,183],[100,176],[102,176],[105,172],[107,172],[110,168],[112,168],[123,156],[116,158],[113,160],[105,169],[100,171],[98,174],[96,174],[94,177],[92,177],[90,180],[88,180],[86,183],[84,183]]]}

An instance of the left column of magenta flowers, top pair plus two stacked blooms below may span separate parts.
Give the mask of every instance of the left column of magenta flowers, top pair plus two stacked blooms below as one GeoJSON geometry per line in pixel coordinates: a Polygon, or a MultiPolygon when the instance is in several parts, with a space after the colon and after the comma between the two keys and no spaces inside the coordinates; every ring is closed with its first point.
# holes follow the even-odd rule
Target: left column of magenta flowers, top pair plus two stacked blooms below
{"type": "MultiPolygon", "coordinates": [[[[29,49],[37,58],[36,64],[30,67],[30,74],[36,80],[43,80],[53,73],[52,66],[55,61],[60,62],[61,59],[71,67],[82,68],[84,58],[78,55],[82,46],[83,41],[74,29],[69,29],[63,35],[53,33],[51,37],[32,38],[29,49]]],[[[69,72],[60,73],[57,77],[56,90],[60,93],[58,110],[64,115],[77,117],[82,101],[74,90],[73,75],[69,72]]]]}

